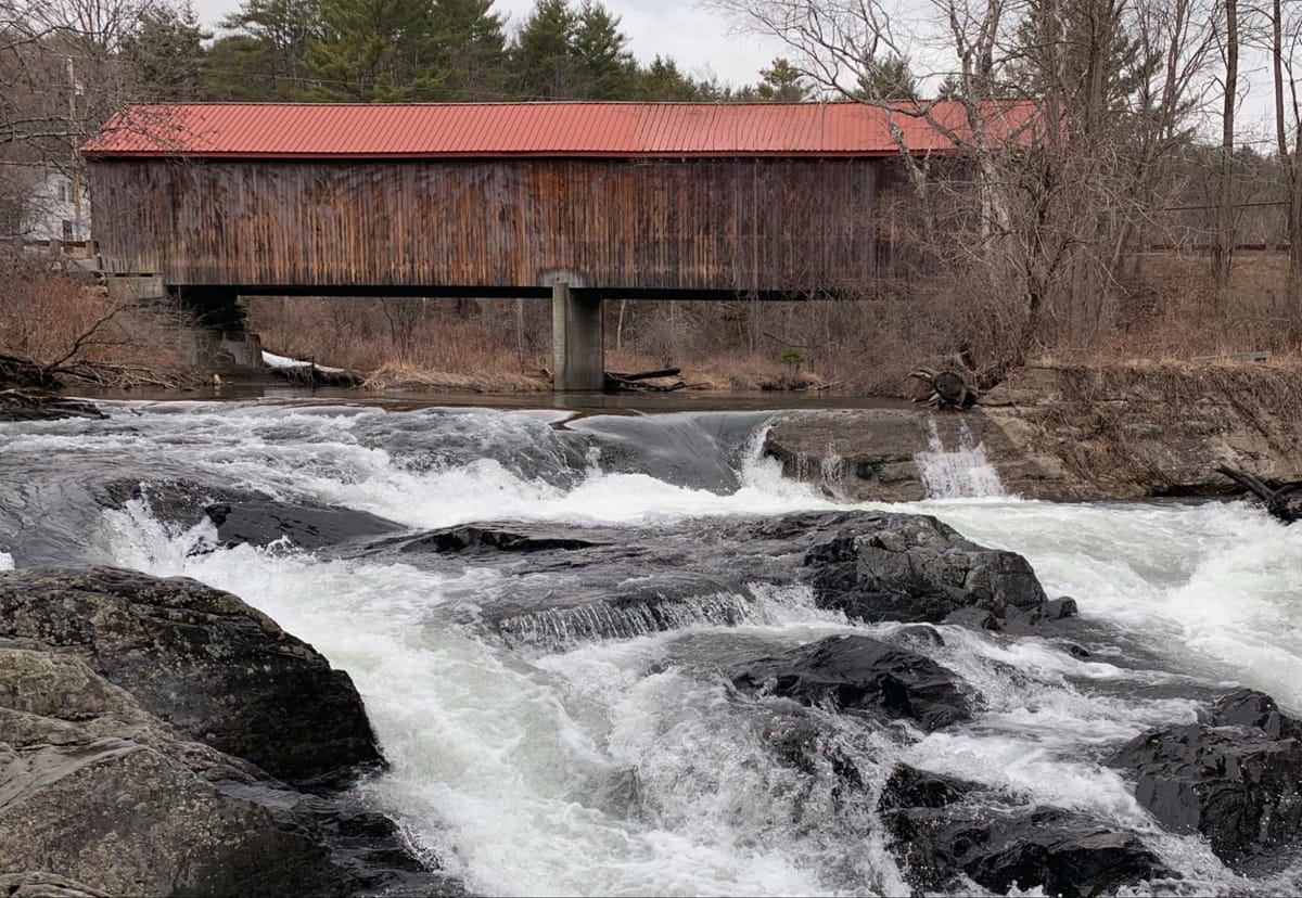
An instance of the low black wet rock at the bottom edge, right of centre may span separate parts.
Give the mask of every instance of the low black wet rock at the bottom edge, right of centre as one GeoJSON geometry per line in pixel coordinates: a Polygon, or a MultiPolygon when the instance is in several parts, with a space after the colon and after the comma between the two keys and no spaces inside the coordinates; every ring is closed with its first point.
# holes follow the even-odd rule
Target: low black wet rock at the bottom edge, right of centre
{"type": "Polygon", "coordinates": [[[1133,833],[902,765],[880,811],[905,877],[923,891],[963,891],[967,877],[996,894],[1017,888],[1075,898],[1172,876],[1133,833]]]}

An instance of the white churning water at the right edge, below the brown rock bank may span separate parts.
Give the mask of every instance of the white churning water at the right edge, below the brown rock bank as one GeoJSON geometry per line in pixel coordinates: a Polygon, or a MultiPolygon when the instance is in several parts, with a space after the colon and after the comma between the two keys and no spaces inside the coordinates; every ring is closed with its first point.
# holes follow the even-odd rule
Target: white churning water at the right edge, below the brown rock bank
{"type": "Polygon", "coordinates": [[[1243,505],[1053,505],[939,511],[1023,553],[1046,588],[1173,670],[1238,681],[1302,713],[1302,530],[1243,505]]]}

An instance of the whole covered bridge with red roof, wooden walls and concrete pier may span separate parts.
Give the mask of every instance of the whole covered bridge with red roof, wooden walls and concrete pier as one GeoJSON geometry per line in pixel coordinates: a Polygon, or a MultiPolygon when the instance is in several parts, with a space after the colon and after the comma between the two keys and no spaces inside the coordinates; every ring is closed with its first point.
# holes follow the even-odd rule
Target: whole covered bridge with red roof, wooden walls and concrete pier
{"type": "Polygon", "coordinates": [[[553,295],[560,389],[600,387],[603,297],[870,286],[898,155],[853,103],[138,105],[82,152],[111,272],[208,302],[553,295]]]}

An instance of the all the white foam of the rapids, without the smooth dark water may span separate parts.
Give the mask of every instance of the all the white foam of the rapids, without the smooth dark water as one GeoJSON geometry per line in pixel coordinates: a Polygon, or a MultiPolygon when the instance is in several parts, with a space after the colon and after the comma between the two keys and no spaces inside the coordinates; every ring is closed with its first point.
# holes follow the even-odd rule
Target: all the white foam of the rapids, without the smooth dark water
{"type": "MultiPolygon", "coordinates": [[[[509,459],[422,469],[363,444],[361,416],[195,409],[173,420],[146,414],[139,427],[92,446],[72,432],[18,440],[31,452],[156,453],[233,485],[414,527],[491,518],[651,524],[845,508],[784,479],[776,459],[763,456],[762,433],[743,454],[741,488],[721,496],[596,469],[556,485],[521,476],[509,459]]],[[[504,415],[465,422],[490,442],[534,439],[536,424],[504,415]]],[[[1211,884],[1200,890],[1229,890],[1234,880],[1206,846],[1159,833],[1099,759],[1148,726],[1193,718],[1191,701],[1142,698],[1144,688],[1177,683],[1177,674],[1241,681],[1302,713],[1302,528],[1223,505],[987,497],[893,510],[937,514],[975,541],[1025,553],[1051,595],[1073,595],[1083,616],[1116,625],[1167,670],[943,627],[947,646],[934,653],[969,683],[976,720],[911,746],[837,730],[865,777],[880,783],[889,764],[906,760],[1027,803],[1099,815],[1143,833],[1199,888],[1211,884]]],[[[484,596],[509,588],[491,570],[452,577],[402,564],[322,561],[284,547],[214,549],[210,524],[173,531],[143,502],[103,521],[99,560],[232,590],[353,675],[393,763],[371,787],[374,800],[440,849],[471,890],[907,890],[880,845],[871,790],[846,804],[820,791],[832,780],[810,782],[776,764],[760,718],[790,709],[756,709],[730,695],[723,677],[664,664],[681,634],[578,643],[543,656],[510,652],[475,625],[484,596]]],[[[754,590],[749,599],[745,622],[729,633],[798,644],[852,629],[814,608],[807,590],[754,590]]],[[[700,629],[707,625],[708,616],[700,629]]]]}

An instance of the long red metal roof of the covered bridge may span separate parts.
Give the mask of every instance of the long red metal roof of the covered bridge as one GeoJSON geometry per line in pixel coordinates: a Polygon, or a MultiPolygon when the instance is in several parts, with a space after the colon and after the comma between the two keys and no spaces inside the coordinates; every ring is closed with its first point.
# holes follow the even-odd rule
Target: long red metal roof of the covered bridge
{"type": "MultiPolygon", "coordinates": [[[[958,103],[932,116],[970,134],[958,103]]],[[[1029,104],[993,120],[1022,129],[1029,104]]],[[[953,151],[926,118],[897,115],[914,152],[953,151]]],[[[415,159],[428,156],[888,156],[884,111],[858,103],[186,103],[128,107],[87,156],[415,159]]]]}

